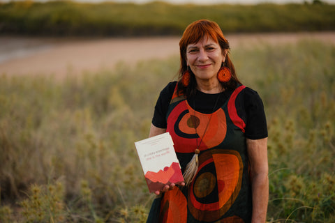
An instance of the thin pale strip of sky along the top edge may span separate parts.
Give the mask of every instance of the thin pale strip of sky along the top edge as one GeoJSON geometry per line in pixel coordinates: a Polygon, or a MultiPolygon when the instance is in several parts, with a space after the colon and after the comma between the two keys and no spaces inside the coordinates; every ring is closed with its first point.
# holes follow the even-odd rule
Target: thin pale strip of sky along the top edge
{"type": "MultiPolygon", "coordinates": [[[[8,1],[24,1],[24,0],[0,0],[0,2],[8,1]]],[[[34,0],[34,1],[49,1],[49,0],[34,0]]],[[[108,0],[73,0],[82,2],[101,2],[108,0]]],[[[111,0],[117,2],[135,2],[135,3],[147,3],[154,0],[111,0]]],[[[241,3],[241,4],[254,4],[254,3],[303,3],[304,1],[311,2],[313,0],[162,0],[169,3],[196,3],[196,4],[214,4],[214,3],[241,3]]],[[[335,3],[335,0],[322,0],[327,3],[335,3]]]]}

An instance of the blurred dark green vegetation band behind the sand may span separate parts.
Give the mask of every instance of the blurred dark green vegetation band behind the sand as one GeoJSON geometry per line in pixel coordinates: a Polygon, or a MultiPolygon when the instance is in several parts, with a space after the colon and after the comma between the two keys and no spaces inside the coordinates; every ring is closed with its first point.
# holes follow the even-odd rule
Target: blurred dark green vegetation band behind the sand
{"type": "Polygon", "coordinates": [[[36,36],[181,35],[199,19],[218,22],[224,33],[333,31],[335,5],[218,4],[197,6],[163,2],[75,3],[20,1],[0,3],[0,33],[36,36]]]}

